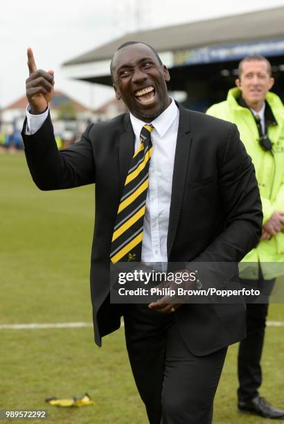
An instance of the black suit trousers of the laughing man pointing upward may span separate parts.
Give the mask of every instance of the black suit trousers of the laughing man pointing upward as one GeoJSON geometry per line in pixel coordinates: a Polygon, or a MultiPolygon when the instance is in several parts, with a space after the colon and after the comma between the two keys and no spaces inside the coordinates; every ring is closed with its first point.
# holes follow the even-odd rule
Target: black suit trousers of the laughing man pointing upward
{"type": "Polygon", "coordinates": [[[136,386],[150,424],[209,424],[227,348],[193,355],[175,313],[126,306],[125,339],[136,386]]]}

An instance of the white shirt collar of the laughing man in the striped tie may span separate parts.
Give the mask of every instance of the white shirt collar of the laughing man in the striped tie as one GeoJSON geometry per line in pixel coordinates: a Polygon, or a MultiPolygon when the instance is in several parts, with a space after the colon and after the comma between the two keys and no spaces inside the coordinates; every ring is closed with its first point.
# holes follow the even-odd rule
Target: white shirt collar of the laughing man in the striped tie
{"type": "MultiPolygon", "coordinates": [[[[160,137],[163,137],[166,134],[166,132],[170,128],[170,125],[172,125],[172,123],[175,121],[175,118],[177,117],[177,113],[179,112],[179,109],[177,105],[175,104],[175,100],[171,97],[170,99],[171,99],[170,105],[166,108],[166,110],[164,110],[163,113],[161,113],[161,115],[157,116],[157,118],[153,119],[152,121],[154,130],[157,131],[160,137]]],[[[141,129],[146,123],[136,118],[131,113],[130,113],[130,120],[132,123],[134,134],[136,136],[140,136],[141,129]]]]}

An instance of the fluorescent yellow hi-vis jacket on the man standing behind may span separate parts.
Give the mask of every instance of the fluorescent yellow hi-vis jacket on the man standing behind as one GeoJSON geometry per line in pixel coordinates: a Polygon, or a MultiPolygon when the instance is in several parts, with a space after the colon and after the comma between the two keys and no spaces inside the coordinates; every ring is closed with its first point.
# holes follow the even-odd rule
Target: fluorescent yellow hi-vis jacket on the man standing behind
{"type": "MultiPolygon", "coordinates": [[[[254,116],[247,107],[238,104],[236,99],[239,96],[240,89],[237,87],[229,90],[227,100],[209,107],[206,113],[237,125],[240,139],[256,168],[265,224],[274,211],[284,211],[284,107],[276,94],[267,93],[265,100],[277,122],[277,125],[268,126],[268,136],[273,143],[271,154],[260,147],[254,116]]],[[[261,240],[258,246],[245,256],[243,262],[260,262],[265,279],[283,275],[284,232],[277,233],[270,240],[261,240]]],[[[243,278],[256,279],[258,268],[249,269],[251,272],[243,278]]]]}

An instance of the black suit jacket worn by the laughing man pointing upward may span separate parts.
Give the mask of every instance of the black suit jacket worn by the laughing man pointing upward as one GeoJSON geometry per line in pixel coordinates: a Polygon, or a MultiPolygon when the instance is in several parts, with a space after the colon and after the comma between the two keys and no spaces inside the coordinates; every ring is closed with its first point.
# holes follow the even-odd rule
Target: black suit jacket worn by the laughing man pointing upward
{"type": "MultiPolygon", "coordinates": [[[[168,228],[171,262],[238,262],[258,242],[262,211],[254,166],[236,125],[179,106],[168,228]]],[[[26,125],[24,124],[24,129],[26,125]]],[[[89,125],[78,143],[57,151],[51,118],[23,131],[28,167],[41,190],[96,183],[91,301],[96,343],[120,326],[109,302],[109,251],[118,204],[134,154],[129,114],[89,125]]],[[[245,337],[245,304],[188,304],[177,310],[188,348],[206,355],[245,337]]]]}

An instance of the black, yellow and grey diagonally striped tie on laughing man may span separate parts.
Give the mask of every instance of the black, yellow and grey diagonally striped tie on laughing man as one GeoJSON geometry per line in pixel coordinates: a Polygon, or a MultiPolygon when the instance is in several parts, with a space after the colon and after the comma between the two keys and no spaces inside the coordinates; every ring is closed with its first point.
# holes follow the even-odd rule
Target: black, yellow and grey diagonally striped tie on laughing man
{"type": "Polygon", "coordinates": [[[118,207],[116,225],[112,236],[110,259],[116,262],[139,262],[143,240],[143,222],[149,186],[149,165],[152,155],[151,131],[144,125],[140,145],[134,153],[130,170],[125,179],[123,196],[118,207]]]}

